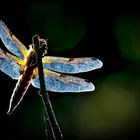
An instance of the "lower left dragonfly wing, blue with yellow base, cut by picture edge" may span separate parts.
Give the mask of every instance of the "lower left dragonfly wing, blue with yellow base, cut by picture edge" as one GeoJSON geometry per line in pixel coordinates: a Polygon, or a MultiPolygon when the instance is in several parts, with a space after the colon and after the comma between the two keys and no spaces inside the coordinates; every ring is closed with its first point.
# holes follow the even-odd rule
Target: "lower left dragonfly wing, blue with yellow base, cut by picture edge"
{"type": "Polygon", "coordinates": [[[23,71],[24,62],[0,49],[0,70],[13,79],[18,79],[23,71]]]}

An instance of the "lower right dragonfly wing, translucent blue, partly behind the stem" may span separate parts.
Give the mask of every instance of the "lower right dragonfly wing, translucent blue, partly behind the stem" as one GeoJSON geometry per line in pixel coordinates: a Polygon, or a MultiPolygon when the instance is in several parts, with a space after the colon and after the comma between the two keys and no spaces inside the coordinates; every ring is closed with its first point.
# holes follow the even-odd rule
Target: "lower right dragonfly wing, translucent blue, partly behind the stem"
{"type": "MultiPolygon", "coordinates": [[[[94,85],[78,77],[59,74],[44,69],[45,85],[48,91],[53,92],[86,92],[93,91],[94,85]]],[[[31,81],[32,85],[40,88],[39,78],[36,77],[31,81]]]]}

